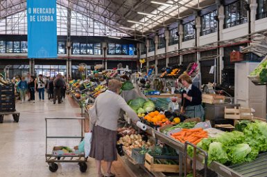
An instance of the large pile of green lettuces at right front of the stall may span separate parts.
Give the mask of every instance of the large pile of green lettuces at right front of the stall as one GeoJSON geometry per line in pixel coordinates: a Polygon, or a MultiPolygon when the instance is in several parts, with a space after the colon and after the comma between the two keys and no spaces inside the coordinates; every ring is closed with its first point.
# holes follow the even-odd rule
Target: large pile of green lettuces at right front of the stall
{"type": "MultiPolygon", "coordinates": [[[[267,123],[241,120],[236,130],[221,133],[216,138],[204,138],[198,147],[207,151],[208,164],[212,161],[226,165],[250,162],[258,154],[267,151],[267,123]]],[[[193,156],[193,147],[188,147],[189,156],[193,156]]]]}

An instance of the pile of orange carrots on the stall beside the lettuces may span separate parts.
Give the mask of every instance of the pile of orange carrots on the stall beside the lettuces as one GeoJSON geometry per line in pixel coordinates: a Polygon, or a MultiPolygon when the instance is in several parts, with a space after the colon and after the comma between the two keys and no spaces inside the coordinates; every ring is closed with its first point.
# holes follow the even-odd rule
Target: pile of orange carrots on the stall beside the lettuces
{"type": "Polygon", "coordinates": [[[203,138],[208,138],[207,131],[202,128],[182,129],[178,133],[171,134],[171,137],[180,142],[191,142],[193,145],[198,144],[203,138]]]}

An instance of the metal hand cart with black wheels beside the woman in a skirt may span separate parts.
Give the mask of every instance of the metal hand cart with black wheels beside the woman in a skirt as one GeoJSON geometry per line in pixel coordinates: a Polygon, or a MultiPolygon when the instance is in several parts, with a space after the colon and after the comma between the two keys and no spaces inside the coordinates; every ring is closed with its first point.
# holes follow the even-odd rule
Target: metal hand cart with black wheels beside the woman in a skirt
{"type": "Polygon", "coordinates": [[[87,158],[85,158],[85,153],[63,153],[62,155],[58,155],[59,153],[47,153],[47,140],[48,139],[60,139],[60,138],[80,138],[80,140],[83,140],[84,138],[84,130],[85,130],[85,118],[45,118],[46,121],[46,162],[49,165],[49,170],[51,172],[55,172],[58,170],[58,164],[60,162],[76,162],[80,166],[80,171],[85,172],[87,170],[87,158]],[[81,130],[80,130],[80,136],[48,136],[48,129],[47,129],[47,123],[49,120],[59,120],[60,122],[64,120],[77,120],[80,121],[81,130]]]}

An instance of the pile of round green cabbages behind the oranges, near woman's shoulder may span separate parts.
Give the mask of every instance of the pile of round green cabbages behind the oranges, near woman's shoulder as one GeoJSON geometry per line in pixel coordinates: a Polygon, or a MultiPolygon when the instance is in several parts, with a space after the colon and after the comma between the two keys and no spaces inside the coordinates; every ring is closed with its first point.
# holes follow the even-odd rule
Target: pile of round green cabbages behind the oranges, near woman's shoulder
{"type": "Polygon", "coordinates": [[[136,113],[149,113],[155,110],[154,102],[150,100],[146,101],[143,97],[137,97],[135,100],[130,100],[128,105],[136,113]]]}

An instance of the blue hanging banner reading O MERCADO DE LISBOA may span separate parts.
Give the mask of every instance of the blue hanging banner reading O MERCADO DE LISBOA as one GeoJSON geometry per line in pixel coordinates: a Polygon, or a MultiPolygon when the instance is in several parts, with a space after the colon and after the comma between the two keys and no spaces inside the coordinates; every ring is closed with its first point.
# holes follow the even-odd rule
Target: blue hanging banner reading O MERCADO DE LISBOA
{"type": "Polygon", "coordinates": [[[27,0],[28,58],[56,58],[56,0],[27,0]]]}

